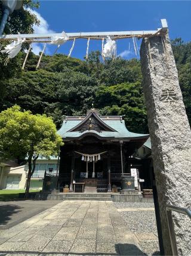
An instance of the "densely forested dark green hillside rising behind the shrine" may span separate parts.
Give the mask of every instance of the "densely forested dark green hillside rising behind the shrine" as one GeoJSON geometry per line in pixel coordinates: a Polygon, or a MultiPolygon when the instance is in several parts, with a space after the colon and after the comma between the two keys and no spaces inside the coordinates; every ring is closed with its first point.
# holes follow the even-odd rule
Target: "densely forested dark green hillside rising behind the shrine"
{"type": "MultiPolygon", "coordinates": [[[[191,43],[172,41],[184,104],[191,123],[191,43]]],[[[3,80],[0,111],[18,104],[32,113],[52,116],[57,128],[63,115],[85,115],[94,103],[101,115],[125,115],[130,131],[148,132],[146,108],[141,87],[140,61],[101,61],[100,52],[92,52],[88,61],[64,55],[39,56],[30,53],[24,71],[24,54],[10,61],[17,72],[3,80]],[[14,66],[15,67],[15,66],[14,66]]],[[[12,66],[11,66],[12,65],[12,66]]]]}

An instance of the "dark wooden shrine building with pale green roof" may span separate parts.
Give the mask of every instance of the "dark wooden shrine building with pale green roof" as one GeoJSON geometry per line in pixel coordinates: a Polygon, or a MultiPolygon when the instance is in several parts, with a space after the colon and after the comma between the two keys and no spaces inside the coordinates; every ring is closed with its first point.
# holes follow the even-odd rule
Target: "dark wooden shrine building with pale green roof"
{"type": "Polygon", "coordinates": [[[75,192],[120,187],[122,175],[130,176],[136,165],[132,155],[149,137],[128,131],[122,116],[100,116],[94,109],[87,116],[67,116],[58,134],[64,141],[58,185],[70,191],[75,185],[75,192]]]}

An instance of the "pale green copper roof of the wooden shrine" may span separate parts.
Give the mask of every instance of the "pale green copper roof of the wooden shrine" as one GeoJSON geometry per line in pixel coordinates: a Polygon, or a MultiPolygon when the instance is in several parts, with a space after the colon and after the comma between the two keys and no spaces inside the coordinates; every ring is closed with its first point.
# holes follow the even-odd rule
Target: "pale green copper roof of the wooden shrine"
{"type": "Polygon", "coordinates": [[[122,120],[121,116],[97,116],[98,119],[101,119],[106,125],[110,128],[115,129],[115,131],[95,131],[93,129],[87,129],[84,132],[81,131],[70,131],[70,129],[79,125],[85,117],[67,117],[66,120],[63,121],[63,125],[57,131],[58,134],[61,135],[63,140],[72,140],[76,138],[85,137],[85,135],[95,135],[98,138],[110,138],[110,139],[133,139],[133,138],[148,138],[149,134],[138,134],[134,132],[128,131],[125,127],[125,122],[122,120]]]}

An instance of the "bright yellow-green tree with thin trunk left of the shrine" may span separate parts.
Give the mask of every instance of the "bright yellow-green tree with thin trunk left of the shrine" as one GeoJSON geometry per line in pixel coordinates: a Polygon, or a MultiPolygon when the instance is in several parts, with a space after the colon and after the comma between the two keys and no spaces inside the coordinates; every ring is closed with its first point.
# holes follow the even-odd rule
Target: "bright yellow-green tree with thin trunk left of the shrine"
{"type": "Polygon", "coordinates": [[[27,159],[26,198],[36,159],[39,156],[57,156],[62,144],[51,118],[32,115],[30,111],[21,112],[19,106],[0,113],[0,156],[1,159],[17,159],[19,162],[27,159]]]}

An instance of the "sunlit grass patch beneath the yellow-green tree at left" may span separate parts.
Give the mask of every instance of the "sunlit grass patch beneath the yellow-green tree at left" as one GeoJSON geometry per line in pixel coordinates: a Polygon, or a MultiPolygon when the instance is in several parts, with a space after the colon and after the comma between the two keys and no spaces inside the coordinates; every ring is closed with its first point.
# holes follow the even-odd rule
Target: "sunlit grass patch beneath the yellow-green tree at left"
{"type": "MultiPolygon", "coordinates": [[[[38,192],[39,189],[30,189],[30,192],[38,192]]],[[[19,193],[24,193],[25,189],[4,189],[0,190],[0,201],[14,201],[19,199],[19,193]]]]}

